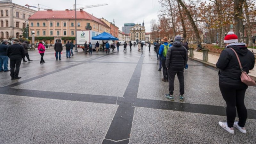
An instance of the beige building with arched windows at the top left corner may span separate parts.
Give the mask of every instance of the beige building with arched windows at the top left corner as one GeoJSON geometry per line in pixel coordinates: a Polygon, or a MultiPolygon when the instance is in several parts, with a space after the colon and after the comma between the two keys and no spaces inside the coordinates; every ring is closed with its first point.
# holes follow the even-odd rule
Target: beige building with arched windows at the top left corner
{"type": "Polygon", "coordinates": [[[26,29],[28,18],[35,10],[12,3],[12,0],[0,1],[0,34],[1,40],[19,38],[22,29],[26,29]]]}

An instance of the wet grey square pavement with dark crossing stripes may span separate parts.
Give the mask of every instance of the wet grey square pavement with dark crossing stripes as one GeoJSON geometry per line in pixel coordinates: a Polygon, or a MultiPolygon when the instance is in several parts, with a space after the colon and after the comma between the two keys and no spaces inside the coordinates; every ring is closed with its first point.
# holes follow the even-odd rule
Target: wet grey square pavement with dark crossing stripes
{"type": "Polygon", "coordinates": [[[247,133],[230,134],[218,125],[226,121],[218,69],[189,59],[185,100],[176,76],[171,102],[153,47],[129,49],[63,51],[60,61],[47,49],[44,64],[29,51],[21,79],[0,73],[0,143],[256,143],[256,87],[245,96],[247,133]]]}

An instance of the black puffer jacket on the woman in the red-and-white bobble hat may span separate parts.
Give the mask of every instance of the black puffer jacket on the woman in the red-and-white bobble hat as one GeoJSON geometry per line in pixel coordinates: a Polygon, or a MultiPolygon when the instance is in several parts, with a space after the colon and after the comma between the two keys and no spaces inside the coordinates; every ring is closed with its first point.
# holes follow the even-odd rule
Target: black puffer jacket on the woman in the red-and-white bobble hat
{"type": "Polygon", "coordinates": [[[216,67],[220,68],[219,81],[223,84],[241,86],[242,89],[247,88],[247,86],[241,82],[241,69],[236,54],[229,47],[232,47],[236,51],[243,70],[246,71],[247,74],[249,70],[254,67],[254,55],[247,49],[244,43],[229,44],[226,49],[221,52],[220,58],[216,63],[216,67]]]}

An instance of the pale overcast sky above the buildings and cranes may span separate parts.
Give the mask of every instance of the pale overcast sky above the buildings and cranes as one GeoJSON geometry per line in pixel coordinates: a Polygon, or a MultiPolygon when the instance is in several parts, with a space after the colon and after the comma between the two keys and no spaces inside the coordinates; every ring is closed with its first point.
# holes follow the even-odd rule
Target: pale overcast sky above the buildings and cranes
{"type": "MultiPolygon", "coordinates": [[[[64,11],[72,9],[75,0],[12,0],[12,3],[25,6],[25,4],[41,8],[64,11]]],[[[104,18],[109,22],[115,19],[115,25],[122,31],[124,23],[142,24],[144,19],[146,32],[151,32],[150,21],[154,18],[158,20],[157,14],[160,10],[158,0],[76,0],[76,8],[108,4],[99,7],[87,8],[84,11],[97,18],[104,18]]],[[[32,8],[37,10],[36,8],[32,8]]]]}

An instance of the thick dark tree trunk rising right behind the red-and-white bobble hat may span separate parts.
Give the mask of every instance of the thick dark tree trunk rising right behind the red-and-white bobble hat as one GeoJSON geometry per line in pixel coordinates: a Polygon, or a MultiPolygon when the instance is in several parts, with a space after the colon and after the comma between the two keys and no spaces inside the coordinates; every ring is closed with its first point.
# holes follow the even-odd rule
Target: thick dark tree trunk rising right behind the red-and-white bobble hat
{"type": "Polygon", "coordinates": [[[234,0],[235,34],[238,37],[238,42],[244,42],[243,2],[244,0],[234,0]]]}

